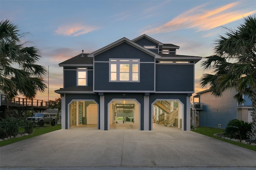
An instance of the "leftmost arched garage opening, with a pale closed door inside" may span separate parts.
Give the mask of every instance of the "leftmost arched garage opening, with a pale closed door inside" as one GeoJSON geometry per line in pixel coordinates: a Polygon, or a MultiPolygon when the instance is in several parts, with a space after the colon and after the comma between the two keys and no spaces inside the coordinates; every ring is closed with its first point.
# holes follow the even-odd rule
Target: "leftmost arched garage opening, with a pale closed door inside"
{"type": "Polygon", "coordinates": [[[98,104],[94,101],[74,100],[69,104],[69,127],[91,127],[98,124],[98,104]]]}

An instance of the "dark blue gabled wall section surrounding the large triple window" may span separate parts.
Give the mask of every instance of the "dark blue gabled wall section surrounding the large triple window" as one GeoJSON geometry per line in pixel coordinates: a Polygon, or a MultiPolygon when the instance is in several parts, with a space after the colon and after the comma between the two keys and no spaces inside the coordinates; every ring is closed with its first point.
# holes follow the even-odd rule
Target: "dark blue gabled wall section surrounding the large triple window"
{"type": "Polygon", "coordinates": [[[95,91],[154,91],[154,57],[122,43],[94,57],[95,91]],[[109,59],[140,59],[139,82],[109,82],[109,59]]]}

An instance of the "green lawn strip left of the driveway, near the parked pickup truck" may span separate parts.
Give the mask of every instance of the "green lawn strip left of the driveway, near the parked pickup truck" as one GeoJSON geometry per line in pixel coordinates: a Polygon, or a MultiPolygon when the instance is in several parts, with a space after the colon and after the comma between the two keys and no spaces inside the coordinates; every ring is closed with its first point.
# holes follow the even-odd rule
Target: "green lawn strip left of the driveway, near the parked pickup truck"
{"type": "MultiPolygon", "coordinates": [[[[8,140],[4,140],[0,142],[0,147],[4,146],[4,145],[9,145],[11,143],[15,143],[18,141],[22,141],[25,139],[29,139],[32,137],[36,137],[38,135],[42,135],[44,133],[49,133],[52,131],[56,131],[56,130],[60,130],[61,129],[61,125],[55,125],[55,126],[51,126],[51,125],[45,125],[44,127],[36,127],[33,131],[32,134],[28,135],[28,136],[24,136],[24,137],[18,137],[18,138],[12,138],[12,139],[8,139],[8,140]]],[[[24,131],[24,129],[21,129],[20,132],[24,131]]]]}

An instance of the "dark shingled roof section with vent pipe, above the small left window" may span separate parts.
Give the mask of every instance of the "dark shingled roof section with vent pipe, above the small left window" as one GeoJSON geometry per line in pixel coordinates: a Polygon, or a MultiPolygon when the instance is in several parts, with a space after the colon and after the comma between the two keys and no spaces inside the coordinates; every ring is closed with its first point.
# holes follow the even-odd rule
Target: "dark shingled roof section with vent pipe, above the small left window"
{"type": "Polygon", "coordinates": [[[84,57],[82,57],[82,53],[72,57],[71,59],[68,59],[66,61],[63,61],[59,64],[59,66],[92,66],[93,60],[91,58],[87,57],[88,54],[83,54],[84,57]]]}

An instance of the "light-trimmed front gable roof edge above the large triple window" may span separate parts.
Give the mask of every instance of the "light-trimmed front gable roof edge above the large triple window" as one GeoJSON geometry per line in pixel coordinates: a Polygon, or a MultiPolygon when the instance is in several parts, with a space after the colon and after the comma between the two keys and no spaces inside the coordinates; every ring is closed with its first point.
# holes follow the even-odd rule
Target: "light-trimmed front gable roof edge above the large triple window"
{"type": "Polygon", "coordinates": [[[144,47],[134,43],[133,41],[131,41],[130,39],[127,39],[126,37],[123,37],[123,38],[115,41],[114,43],[111,43],[111,44],[109,44],[109,45],[107,45],[107,46],[105,46],[105,47],[103,47],[101,49],[98,49],[97,51],[94,51],[93,53],[90,53],[88,55],[88,57],[94,57],[94,56],[96,56],[96,55],[98,55],[100,53],[103,53],[103,52],[105,52],[105,51],[107,51],[107,50],[109,50],[109,49],[111,49],[111,48],[113,48],[113,47],[115,47],[117,45],[120,45],[120,44],[122,44],[124,42],[128,43],[129,45],[132,45],[133,47],[135,47],[137,49],[140,49],[141,51],[144,51],[145,53],[148,53],[149,55],[152,55],[155,58],[160,58],[160,56],[158,54],[153,53],[152,51],[150,51],[150,50],[148,50],[148,49],[146,49],[146,48],[144,48],[144,47]]]}

